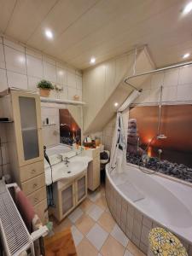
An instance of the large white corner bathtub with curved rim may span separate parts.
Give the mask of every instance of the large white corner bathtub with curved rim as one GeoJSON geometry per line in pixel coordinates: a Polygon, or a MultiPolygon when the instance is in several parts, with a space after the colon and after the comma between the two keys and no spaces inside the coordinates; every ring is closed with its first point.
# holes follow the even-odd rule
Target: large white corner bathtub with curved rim
{"type": "MultiPolygon", "coordinates": [[[[113,176],[108,173],[108,166],[106,171],[111,188],[113,187],[128,205],[151,221],[182,237],[190,246],[192,242],[192,186],[160,175],[145,174],[137,166],[131,164],[127,164],[124,172],[113,176]]],[[[110,204],[109,201],[108,203],[110,204]]],[[[122,223],[121,220],[119,222],[122,223]]],[[[141,240],[141,237],[138,239],[141,240]]]]}

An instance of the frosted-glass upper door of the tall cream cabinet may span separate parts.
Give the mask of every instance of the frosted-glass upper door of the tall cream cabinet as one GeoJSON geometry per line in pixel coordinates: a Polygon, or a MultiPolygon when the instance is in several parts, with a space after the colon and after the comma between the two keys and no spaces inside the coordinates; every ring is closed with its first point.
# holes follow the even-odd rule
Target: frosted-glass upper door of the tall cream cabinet
{"type": "Polygon", "coordinates": [[[44,160],[39,96],[12,90],[11,100],[19,165],[26,166],[44,160]]]}

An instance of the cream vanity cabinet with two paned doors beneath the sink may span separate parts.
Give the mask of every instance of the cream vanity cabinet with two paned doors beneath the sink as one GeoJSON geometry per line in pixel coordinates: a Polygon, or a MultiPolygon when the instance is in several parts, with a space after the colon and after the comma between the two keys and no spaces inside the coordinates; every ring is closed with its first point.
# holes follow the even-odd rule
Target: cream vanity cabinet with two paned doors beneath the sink
{"type": "Polygon", "coordinates": [[[84,171],[74,180],[54,183],[54,202],[51,213],[61,221],[87,196],[87,174],[84,171]]]}

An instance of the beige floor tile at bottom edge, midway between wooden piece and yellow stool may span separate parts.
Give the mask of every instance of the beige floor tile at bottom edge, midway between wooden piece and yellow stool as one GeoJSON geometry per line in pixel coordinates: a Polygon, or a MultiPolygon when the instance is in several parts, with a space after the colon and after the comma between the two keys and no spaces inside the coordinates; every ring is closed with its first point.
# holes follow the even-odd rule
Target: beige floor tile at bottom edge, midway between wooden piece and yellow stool
{"type": "Polygon", "coordinates": [[[112,236],[108,236],[107,241],[102,246],[101,253],[103,256],[123,256],[125,247],[119,241],[116,241],[112,236]]]}

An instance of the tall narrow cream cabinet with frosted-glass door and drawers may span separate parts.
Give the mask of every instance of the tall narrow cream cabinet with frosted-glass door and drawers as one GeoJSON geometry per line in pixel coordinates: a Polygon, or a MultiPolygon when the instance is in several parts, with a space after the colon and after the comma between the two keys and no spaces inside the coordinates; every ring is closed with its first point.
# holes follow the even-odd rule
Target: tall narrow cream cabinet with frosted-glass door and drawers
{"type": "Polygon", "coordinates": [[[48,216],[40,98],[37,94],[9,90],[3,96],[3,110],[13,120],[7,125],[12,180],[20,185],[45,223],[48,216]]]}

